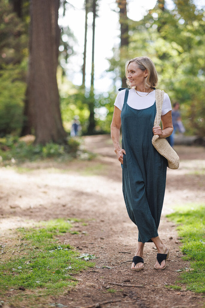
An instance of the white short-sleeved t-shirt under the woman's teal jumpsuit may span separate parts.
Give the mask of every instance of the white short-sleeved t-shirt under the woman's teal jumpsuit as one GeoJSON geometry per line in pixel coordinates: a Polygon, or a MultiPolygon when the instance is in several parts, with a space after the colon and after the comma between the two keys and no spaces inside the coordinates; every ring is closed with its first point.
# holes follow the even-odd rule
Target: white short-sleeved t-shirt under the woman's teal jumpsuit
{"type": "MultiPolygon", "coordinates": [[[[122,107],[123,107],[125,91],[126,90],[119,91],[119,93],[117,94],[115,103],[114,103],[114,105],[117,108],[119,108],[120,110],[122,110],[122,107]]],[[[139,91],[137,91],[137,93],[139,93],[140,95],[143,95],[143,96],[145,96],[147,94],[146,92],[139,92],[139,91]]],[[[148,108],[148,107],[150,107],[154,104],[154,102],[155,102],[155,90],[150,92],[146,96],[146,98],[137,95],[137,93],[135,92],[134,88],[129,90],[127,104],[130,107],[132,107],[134,109],[145,109],[145,108],[148,108]]],[[[171,110],[171,101],[170,101],[168,94],[164,92],[164,100],[163,100],[163,104],[162,104],[162,115],[165,115],[170,110],[171,110]]]]}

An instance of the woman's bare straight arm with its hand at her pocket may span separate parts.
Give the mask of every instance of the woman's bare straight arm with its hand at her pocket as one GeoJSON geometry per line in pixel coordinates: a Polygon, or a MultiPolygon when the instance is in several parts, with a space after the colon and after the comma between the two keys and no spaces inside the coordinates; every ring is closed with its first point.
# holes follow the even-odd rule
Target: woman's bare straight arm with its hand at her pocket
{"type": "Polygon", "coordinates": [[[114,113],[112,117],[112,123],[111,123],[111,138],[114,145],[115,153],[118,157],[118,160],[121,164],[123,164],[123,153],[125,153],[125,150],[120,148],[120,127],[121,127],[121,110],[114,107],[114,113]]]}

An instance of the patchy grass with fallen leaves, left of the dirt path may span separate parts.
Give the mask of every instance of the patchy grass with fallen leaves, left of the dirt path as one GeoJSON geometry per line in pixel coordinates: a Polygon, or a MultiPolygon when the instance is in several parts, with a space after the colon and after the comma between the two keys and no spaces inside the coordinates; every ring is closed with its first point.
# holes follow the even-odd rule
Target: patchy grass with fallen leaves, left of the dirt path
{"type": "MultiPolygon", "coordinates": [[[[72,275],[93,267],[94,263],[77,258],[79,253],[70,245],[59,243],[61,235],[70,232],[71,226],[69,220],[55,219],[43,221],[32,229],[17,229],[20,243],[13,249],[14,253],[20,251],[20,255],[12,255],[1,263],[0,297],[13,291],[15,296],[10,300],[14,301],[15,297],[15,307],[18,307],[18,301],[20,305],[25,298],[32,301],[38,294],[45,299],[75,286],[77,281],[72,275]],[[22,295],[19,295],[19,287],[26,289],[22,295]]],[[[8,256],[9,248],[5,250],[8,256]]]]}

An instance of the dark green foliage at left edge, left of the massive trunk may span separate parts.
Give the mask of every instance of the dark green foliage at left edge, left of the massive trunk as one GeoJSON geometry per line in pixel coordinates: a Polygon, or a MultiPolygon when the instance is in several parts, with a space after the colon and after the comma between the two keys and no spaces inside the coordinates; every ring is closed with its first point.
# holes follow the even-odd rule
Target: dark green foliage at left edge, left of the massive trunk
{"type": "MultiPolygon", "coordinates": [[[[22,2],[22,10],[25,6],[22,2]]],[[[0,136],[18,134],[23,123],[28,22],[17,17],[8,0],[0,2],[0,136]]]]}

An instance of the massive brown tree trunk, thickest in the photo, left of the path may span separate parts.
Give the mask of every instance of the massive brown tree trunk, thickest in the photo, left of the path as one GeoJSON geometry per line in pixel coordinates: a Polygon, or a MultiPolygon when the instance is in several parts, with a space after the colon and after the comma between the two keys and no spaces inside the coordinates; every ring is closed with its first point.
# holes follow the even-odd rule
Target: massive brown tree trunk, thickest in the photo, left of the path
{"type": "Polygon", "coordinates": [[[35,129],[35,143],[65,143],[56,80],[60,29],[59,0],[31,0],[29,109],[35,129]]]}

